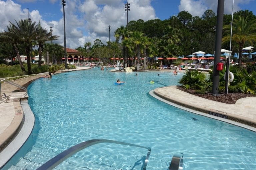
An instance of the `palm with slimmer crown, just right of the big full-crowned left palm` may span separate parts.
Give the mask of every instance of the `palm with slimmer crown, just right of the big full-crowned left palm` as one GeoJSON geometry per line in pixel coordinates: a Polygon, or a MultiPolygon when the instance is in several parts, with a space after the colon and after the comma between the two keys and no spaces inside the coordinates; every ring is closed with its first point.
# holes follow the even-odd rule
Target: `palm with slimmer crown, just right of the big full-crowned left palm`
{"type": "Polygon", "coordinates": [[[47,32],[46,29],[43,29],[40,23],[35,29],[37,32],[36,41],[38,42],[38,67],[41,67],[44,43],[50,40],[57,40],[58,36],[52,36],[52,33],[47,32]]]}

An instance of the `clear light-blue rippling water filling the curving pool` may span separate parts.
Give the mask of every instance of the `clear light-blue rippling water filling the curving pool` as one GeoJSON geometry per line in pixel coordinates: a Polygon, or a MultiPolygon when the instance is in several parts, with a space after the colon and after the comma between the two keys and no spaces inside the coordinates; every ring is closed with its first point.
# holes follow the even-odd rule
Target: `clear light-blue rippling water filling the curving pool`
{"type": "MultiPolygon", "coordinates": [[[[256,169],[255,132],[180,110],[148,94],[177,85],[181,76],[155,71],[136,76],[94,68],[32,82],[28,94],[35,127],[3,169],[36,169],[65,149],[95,138],[151,147],[148,170],[166,170],[180,152],[185,170],[256,169]],[[114,85],[117,79],[126,84],[114,85]]],[[[102,143],[56,169],[140,170],[146,154],[146,149],[102,143]]]]}

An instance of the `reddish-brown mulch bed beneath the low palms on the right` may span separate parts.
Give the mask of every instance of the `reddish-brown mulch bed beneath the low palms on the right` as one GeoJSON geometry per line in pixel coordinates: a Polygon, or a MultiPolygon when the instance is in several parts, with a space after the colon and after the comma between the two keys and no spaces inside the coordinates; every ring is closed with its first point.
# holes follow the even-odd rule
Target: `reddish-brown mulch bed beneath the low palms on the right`
{"type": "Polygon", "coordinates": [[[227,104],[235,104],[238,99],[246,98],[246,97],[256,97],[256,95],[244,94],[244,93],[228,93],[225,95],[224,93],[219,94],[218,96],[213,96],[212,93],[207,94],[197,94],[193,89],[184,89],[182,87],[178,87],[179,90],[184,92],[193,94],[195,96],[199,96],[205,99],[213,100],[216,102],[227,103],[227,104]]]}

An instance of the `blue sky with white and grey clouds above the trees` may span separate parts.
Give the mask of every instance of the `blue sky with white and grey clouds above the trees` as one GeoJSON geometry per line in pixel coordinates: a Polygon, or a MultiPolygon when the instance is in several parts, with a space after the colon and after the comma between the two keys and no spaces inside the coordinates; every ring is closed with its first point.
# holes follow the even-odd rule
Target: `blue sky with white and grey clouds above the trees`
{"type": "MultiPolygon", "coordinates": [[[[202,16],[207,9],[217,14],[218,0],[129,0],[128,20],[144,21],[159,18],[165,20],[177,15],[180,11],[188,11],[193,16],[202,16]]],[[[233,0],[225,0],[224,13],[232,13],[233,0]]],[[[234,12],[248,9],[256,14],[256,0],[234,0],[234,12]]],[[[126,25],[126,11],[123,0],[66,0],[66,42],[67,47],[84,46],[98,38],[103,43],[108,41],[108,26],[111,26],[111,41],[114,31],[126,25]]],[[[0,0],[0,31],[6,30],[8,21],[32,18],[60,36],[56,42],[64,45],[63,6],[61,0],[0,0]]]]}

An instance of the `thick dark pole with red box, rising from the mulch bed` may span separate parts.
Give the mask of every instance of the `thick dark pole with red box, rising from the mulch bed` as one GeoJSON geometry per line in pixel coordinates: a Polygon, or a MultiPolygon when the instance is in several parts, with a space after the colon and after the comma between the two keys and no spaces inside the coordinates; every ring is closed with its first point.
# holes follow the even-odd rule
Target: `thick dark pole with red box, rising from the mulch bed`
{"type": "Polygon", "coordinates": [[[214,56],[214,67],[213,67],[213,85],[212,85],[212,94],[214,96],[217,96],[219,93],[219,71],[217,70],[217,63],[220,62],[220,54],[221,54],[224,1],[225,0],[218,0],[215,56],[214,56]]]}

